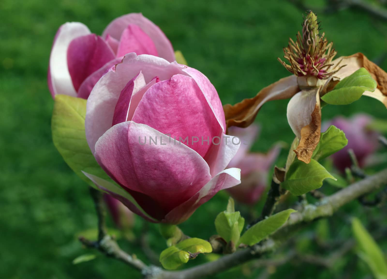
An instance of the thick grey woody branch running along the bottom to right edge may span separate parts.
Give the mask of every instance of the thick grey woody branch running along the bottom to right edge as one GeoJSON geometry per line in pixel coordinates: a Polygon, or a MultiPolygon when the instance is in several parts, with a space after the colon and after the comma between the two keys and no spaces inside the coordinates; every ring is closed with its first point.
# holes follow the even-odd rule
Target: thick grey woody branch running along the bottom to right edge
{"type": "MultiPolygon", "coordinates": [[[[237,252],[226,255],[219,260],[201,264],[196,267],[181,271],[167,271],[159,267],[148,267],[138,259],[134,259],[127,253],[123,252],[115,243],[109,247],[108,255],[112,255],[117,259],[123,260],[128,265],[132,265],[137,269],[142,270],[146,279],[199,279],[206,276],[211,276],[228,270],[232,267],[248,262],[252,259],[257,259],[267,252],[276,249],[289,235],[302,225],[307,224],[317,218],[329,217],[334,214],[344,204],[356,200],[364,194],[377,190],[387,182],[387,169],[378,172],[375,175],[366,177],[363,180],[355,182],[348,187],[336,192],[332,196],[324,197],[315,205],[307,205],[301,212],[291,214],[286,224],[279,229],[274,235],[263,243],[258,243],[252,247],[238,250],[237,252]]],[[[111,239],[108,240],[113,241],[111,239]]],[[[101,245],[101,244],[100,244],[101,245]]],[[[89,246],[89,245],[88,245],[89,246]]],[[[94,247],[99,248],[99,247],[94,247]]],[[[99,248],[101,250],[101,248],[99,248]]],[[[102,252],[106,249],[103,247],[102,252]]]]}

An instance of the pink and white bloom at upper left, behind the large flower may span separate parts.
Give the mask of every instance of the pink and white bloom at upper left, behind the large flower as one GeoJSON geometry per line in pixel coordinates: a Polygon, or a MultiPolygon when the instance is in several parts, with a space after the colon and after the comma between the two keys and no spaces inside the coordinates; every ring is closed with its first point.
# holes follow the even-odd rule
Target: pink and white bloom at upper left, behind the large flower
{"type": "Polygon", "coordinates": [[[175,61],[172,45],[163,31],[142,14],[113,20],[102,36],[80,22],[67,22],[55,35],[48,65],[51,95],[87,99],[104,73],[127,53],[151,54],[175,61]]]}

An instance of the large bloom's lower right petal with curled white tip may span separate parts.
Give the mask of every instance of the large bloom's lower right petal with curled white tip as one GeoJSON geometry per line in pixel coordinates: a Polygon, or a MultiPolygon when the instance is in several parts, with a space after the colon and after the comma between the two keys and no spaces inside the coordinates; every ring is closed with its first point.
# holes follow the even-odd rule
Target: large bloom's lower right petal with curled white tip
{"type": "Polygon", "coordinates": [[[209,201],[217,192],[240,184],[240,169],[228,168],[212,178],[188,201],[180,204],[165,216],[164,223],[180,224],[187,220],[199,206],[209,201]]]}

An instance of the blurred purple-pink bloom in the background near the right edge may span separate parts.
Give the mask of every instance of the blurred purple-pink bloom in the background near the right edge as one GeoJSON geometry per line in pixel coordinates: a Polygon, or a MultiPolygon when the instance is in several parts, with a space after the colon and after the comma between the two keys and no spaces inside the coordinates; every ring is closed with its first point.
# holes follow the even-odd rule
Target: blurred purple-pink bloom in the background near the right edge
{"type": "Polygon", "coordinates": [[[367,128],[371,121],[372,117],[367,114],[355,114],[348,119],[336,117],[326,124],[326,128],[334,125],[341,129],[348,139],[348,145],[331,156],[335,167],[341,172],[352,165],[349,149],[355,153],[360,167],[364,167],[366,159],[376,151],[379,133],[367,128]]]}

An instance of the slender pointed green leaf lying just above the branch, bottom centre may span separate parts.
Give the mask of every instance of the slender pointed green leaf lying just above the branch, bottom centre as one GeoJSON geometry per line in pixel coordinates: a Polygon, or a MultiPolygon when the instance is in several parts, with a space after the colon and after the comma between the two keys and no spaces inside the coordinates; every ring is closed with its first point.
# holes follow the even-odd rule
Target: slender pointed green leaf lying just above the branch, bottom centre
{"type": "Polygon", "coordinates": [[[258,222],[241,236],[239,243],[251,246],[260,242],[262,239],[281,228],[293,212],[296,212],[296,210],[286,209],[258,222]]]}

